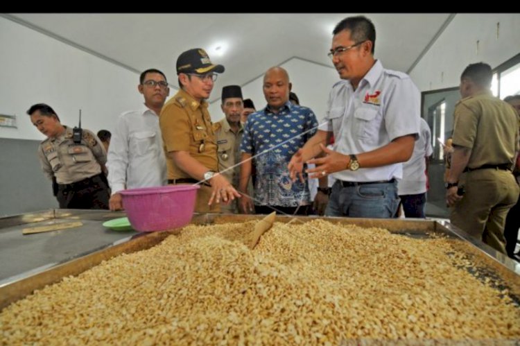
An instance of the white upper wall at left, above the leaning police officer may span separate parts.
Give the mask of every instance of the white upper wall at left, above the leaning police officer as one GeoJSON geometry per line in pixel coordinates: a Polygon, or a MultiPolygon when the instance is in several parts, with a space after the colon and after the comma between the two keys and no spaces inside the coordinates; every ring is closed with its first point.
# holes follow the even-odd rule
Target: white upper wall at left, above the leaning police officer
{"type": "Polygon", "coordinates": [[[15,114],[18,126],[0,127],[0,137],[43,140],[26,114],[34,103],[69,126],[81,109],[82,126],[97,132],[143,102],[137,73],[1,17],[0,46],[0,114],[15,114]]]}

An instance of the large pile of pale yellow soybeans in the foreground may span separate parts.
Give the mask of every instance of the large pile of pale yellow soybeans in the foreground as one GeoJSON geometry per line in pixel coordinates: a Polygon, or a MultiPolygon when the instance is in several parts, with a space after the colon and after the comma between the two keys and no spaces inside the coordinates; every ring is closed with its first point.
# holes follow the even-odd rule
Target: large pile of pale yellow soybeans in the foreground
{"type": "Polygon", "coordinates": [[[453,240],[324,220],[184,227],[0,313],[0,345],[514,343],[520,308],[453,240]],[[415,340],[415,341],[414,341],[415,340]]]}

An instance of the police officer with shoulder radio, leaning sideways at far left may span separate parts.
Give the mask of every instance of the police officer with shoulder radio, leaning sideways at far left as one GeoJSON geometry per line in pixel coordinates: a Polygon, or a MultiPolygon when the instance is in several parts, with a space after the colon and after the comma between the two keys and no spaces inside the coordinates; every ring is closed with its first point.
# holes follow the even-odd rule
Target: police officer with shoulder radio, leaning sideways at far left
{"type": "Polygon", "coordinates": [[[60,208],[108,209],[107,153],[96,135],[84,128],[75,140],[73,129],[62,125],[44,103],[31,106],[27,114],[47,137],[38,147],[38,156],[44,174],[53,180],[60,208]]]}

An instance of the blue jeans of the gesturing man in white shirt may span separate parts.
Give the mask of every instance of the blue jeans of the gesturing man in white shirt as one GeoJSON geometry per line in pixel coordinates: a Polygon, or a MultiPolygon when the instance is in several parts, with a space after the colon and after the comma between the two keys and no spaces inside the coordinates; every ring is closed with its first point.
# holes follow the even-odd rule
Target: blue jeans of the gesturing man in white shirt
{"type": "Polygon", "coordinates": [[[343,187],[340,181],[336,181],[332,186],[325,216],[394,218],[398,206],[397,182],[343,187]]]}

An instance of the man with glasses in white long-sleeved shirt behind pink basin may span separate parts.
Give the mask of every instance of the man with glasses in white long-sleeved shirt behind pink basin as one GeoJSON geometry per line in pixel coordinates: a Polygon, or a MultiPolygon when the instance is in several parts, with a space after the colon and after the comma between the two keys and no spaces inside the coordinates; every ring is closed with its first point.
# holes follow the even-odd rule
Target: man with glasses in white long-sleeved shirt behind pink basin
{"type": "Polygon", "coordinates": [[[147,69],[141,73],[137,89],[144,96],[143,107],[121,114],[110,140],[110,210],[123,209],[121,190],[166,184],[166,159],[159,128],[159,114],[170,93],[166,76],[157,69],[147,69]]]}

